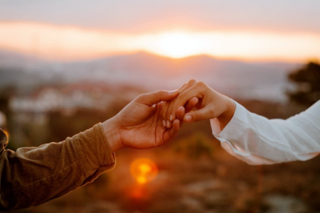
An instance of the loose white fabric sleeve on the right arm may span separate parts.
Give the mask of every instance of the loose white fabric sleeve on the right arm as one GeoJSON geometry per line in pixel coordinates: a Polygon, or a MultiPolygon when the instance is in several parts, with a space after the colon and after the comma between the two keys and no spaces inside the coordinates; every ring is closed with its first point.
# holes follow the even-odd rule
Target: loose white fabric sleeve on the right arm
{"type": "Polygon", "coordinates": [[[309,160],[320,153],[320,101],[287,120],[270,120],[236,103],[225,129],[217,119],[210,124],[221,146],[251,165],[309,160]]]}

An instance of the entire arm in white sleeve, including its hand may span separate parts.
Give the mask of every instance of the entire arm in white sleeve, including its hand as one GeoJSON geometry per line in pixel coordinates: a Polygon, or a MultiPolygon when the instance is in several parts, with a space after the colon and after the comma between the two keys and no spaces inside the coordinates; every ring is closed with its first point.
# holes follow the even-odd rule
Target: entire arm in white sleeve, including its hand
{"type": "Polygon", "coordinates": [[[320,102],[287,120],[269,120],[247,111],[203,82],[191,80],[163,111],[163,119],[188,99],[197,97],[196,110],[184,121],[210,119],[213,134],[228,153],[249,164],[308,160],[320,152],[320,102]]]}

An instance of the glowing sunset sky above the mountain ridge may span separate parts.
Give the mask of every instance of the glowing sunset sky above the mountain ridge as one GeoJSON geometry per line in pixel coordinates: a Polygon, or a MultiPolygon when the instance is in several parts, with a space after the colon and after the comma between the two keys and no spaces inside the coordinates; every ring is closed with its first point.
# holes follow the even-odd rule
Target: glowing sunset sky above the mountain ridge
{"type": "Polygon", "coordinates": [[[79,60],[146,51],[240,60],[320,56],[320,1],[0,1],[0,49],[79,60]]]}

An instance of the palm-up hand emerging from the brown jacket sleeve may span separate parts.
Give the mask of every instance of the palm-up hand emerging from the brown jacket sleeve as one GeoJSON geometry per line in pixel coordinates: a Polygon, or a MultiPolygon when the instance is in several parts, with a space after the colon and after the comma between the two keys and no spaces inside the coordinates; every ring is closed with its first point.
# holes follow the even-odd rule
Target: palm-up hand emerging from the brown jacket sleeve
{"type": "MultiPolygon", "coordinates": [[[[176,136],[181,122],[172,120],[172,128],[166,129],[161,119],[164,102],[171,101],[178,91],[159,91],[142,94],[124,107],[112,119],[103,123],[107,140],[112,151],[120,148],[154,148],[176,136]]],[[[183,119],[184,109],[175,116],[183,119]]]]}

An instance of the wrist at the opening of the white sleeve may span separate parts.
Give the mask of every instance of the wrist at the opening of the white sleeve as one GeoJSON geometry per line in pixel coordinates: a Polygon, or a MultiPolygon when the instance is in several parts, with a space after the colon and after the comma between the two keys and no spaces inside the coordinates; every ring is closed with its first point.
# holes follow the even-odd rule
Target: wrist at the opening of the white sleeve
{"type": "Polygon", "coordinates": [[[225,102],[225,104],[223,104],[223,112],[220,114],[220,116],[217,117],[221,129],[224,129],[225,126],[228,125],[228,123],[233,118],[233,114],[235,114],[235,101],[225,96],[223,97],[223,99],[225,102]]]}

